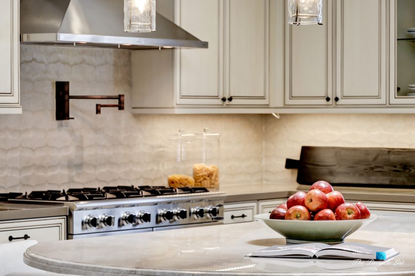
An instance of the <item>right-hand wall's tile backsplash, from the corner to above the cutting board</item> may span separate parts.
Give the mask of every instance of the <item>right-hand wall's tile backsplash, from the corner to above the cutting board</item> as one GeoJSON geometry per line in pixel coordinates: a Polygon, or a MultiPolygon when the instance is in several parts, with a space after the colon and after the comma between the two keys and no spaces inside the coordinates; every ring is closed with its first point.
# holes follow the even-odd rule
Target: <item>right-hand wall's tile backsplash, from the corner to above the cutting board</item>
{"type": "Polygon", "coordinates": [[[301,146],[415,148],[414,114],[284,114],[265,117],[264,182],[296,183],[286,158],[301,146]]]}

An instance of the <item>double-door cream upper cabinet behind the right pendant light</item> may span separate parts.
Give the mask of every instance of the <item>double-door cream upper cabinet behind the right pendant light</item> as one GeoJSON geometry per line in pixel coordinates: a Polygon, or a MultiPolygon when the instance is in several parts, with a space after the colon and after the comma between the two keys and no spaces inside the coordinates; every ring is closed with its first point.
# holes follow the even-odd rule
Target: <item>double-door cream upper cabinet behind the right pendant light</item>
{"type": "Polygon", "coordinates": [[[387,2],[324,0],[322,26],[287,25],[286,106],[387,104],[387,2]]]}

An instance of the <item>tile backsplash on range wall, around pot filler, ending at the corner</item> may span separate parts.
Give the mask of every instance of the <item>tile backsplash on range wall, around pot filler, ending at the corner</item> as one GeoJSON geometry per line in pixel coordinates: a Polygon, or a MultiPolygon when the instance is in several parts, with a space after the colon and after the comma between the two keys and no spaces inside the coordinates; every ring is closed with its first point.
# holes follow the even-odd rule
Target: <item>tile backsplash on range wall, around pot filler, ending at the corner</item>
{"type": "Polygon", "coordinates": [[[132,115],[130,51],[22,45],[22,115],[0,116],[0,192],[164,185],[168,134],[221,134],[221,184],[262,182],[261,115],[132,115]],[[74,120],[55,120],[55,81],[73,95],[125,94],[125,110],[71,100],[74,120]]]}

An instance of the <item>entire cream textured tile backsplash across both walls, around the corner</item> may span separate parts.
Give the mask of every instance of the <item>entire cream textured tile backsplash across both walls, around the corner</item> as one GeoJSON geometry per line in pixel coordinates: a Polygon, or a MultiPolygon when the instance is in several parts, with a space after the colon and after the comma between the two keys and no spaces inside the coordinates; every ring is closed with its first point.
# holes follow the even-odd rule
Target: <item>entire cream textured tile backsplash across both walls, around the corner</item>
{"type": "MultiPolygon", "coordinates": [[[[221,186],[294,183],[301,146],[415,148],[415,115],[132,115],[128,50],[23,45],[22,115],[0,116],[0,192],[164,185],[169,134],[209,127],[220,138],[221,186]],[[71,100],[55,120],[55,81],[73,95],[125,94],[125,110],[71,100]]],[[[169,160],[171,161],[171,160],[169,160]]]]}

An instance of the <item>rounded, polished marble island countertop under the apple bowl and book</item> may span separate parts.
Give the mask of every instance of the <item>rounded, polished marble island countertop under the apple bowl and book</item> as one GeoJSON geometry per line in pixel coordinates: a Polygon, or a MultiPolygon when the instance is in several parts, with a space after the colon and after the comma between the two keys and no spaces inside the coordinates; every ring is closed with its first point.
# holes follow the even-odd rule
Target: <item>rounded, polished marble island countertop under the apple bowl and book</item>
{"type": "Polygon", "coordinates": [[[389,261],[247,258],[285,238],[259,222],[44,242],[27,249],[35,268],[75,275],[394,275],[415,274],[414,212],[377,211],[348,242],[393,247],[389,261]]]}

